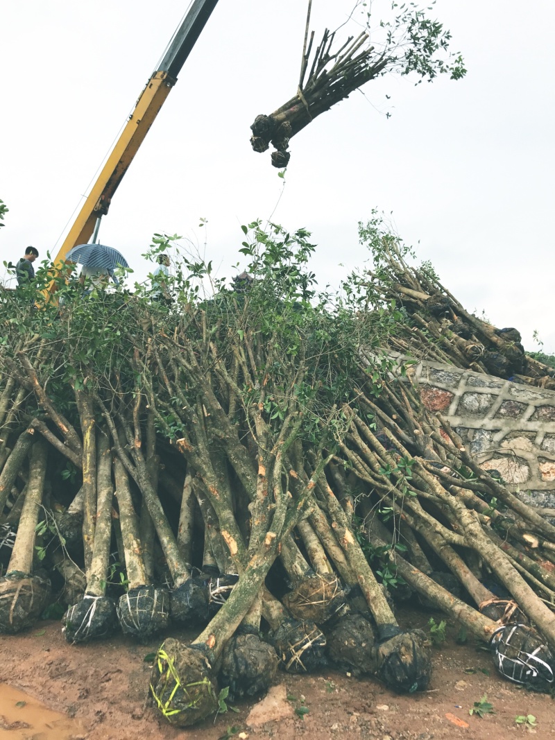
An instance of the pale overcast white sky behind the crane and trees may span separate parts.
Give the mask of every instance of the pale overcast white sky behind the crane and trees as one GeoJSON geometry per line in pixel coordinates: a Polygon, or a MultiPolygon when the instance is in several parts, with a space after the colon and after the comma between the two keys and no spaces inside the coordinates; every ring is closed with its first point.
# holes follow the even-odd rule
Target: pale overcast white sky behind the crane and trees
{"type": "MultiPolygon", "coordinates": [[[[353,5],[313,0],[316,37],[353,5]]],[[[0,198],[10,208],[0,260],[16,260],[27,244],[41,256],[61,244],[186,0],[0,0],[0,9],[0,198]]],[[[269,152],[252,152],[249,126],[296,90],[306,1],[220,0],[100,241],[142,278],[153,232],[206,239],[206,257],[231,276],[240,224],[275,211],[277,223],[312,231],[319,285],[337,286],[366,259],[357,222],[377,207],[393,212],[406,242],[420,240],[419,257],[467,309],[516,326],[527,349],[538,349],[537,330],[555,351],[555,4],[439,0],[431,15],[451,30],[466,78],[370,82],[292,139],[280,198],[283,182],[269,152]]]]}

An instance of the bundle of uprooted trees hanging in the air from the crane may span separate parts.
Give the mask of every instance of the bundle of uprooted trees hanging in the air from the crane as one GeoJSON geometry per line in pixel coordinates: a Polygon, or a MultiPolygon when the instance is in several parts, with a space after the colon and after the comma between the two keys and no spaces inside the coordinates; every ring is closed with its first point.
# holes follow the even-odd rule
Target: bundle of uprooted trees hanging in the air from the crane
{"type": "Polygon", "coordinates": [[[272,144],[272,164],[286,166],[295,134],[366,82],[384,75],[411,75],[416,84],[444,74],[453,80],[464,77],[462,55],[449,50],[451,33],[429,16],[434,4],[435,0],[423,8],[415,2],[357,1],[346,23],[336,31],[326,29],[314,49],[309,0],[297,92],[270,115],[255,118],[251,126],[255,152],[266,152],[272,144]],[[350,22],[364,30],[336,39],[350,22]]]}

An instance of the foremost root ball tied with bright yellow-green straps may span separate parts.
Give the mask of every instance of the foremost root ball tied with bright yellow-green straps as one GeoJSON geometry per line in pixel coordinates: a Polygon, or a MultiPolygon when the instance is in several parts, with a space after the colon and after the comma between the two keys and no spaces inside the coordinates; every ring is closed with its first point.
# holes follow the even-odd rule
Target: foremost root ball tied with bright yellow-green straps
{"type": "Polygon", "coordinates": [[[189,727],[218,710],[218,683],[206,656],[176,639],[158,648],[150,693],[158,713],[175,727],[189,727]]]}

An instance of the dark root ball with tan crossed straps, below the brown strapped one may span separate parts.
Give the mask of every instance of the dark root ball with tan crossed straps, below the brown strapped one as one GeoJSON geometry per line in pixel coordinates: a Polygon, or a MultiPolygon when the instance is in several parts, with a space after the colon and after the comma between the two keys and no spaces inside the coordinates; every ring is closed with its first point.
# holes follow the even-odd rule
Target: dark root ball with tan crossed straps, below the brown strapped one
{"type": "Polygon", "coordinates": [[[284,619],[269,633],[280,667],[289,673],[310,673],[328,665],[326,637],[314,622],[284,619]]]}

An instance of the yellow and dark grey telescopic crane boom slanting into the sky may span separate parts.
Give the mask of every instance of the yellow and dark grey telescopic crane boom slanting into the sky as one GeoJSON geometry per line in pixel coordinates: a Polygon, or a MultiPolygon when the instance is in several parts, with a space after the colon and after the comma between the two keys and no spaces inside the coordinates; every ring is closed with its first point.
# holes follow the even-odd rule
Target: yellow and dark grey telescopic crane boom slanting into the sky
{"type": "Polygon", "coordinates": [[[87,243],[94,232],[98,217],[107,214],[115,190],[169,95],[169,91],[175,85],[181,67],[217,3],[218,0],[193,0],[189,12],[169,44],[160,67],[152,73],[141,92],[135,109],[129,116],[106,164],[81,206],[77,218],[55,256],[55,264],[63,261],[67,252],[74,246],[87,243]]]}

